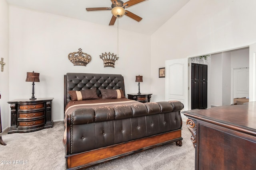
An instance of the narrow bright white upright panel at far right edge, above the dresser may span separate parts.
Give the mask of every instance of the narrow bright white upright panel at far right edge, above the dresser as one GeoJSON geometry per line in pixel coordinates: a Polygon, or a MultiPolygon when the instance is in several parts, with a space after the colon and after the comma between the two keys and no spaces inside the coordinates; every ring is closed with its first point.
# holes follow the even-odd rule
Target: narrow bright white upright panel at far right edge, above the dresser
{"type": "Polygon", "coordinates": [[[256,101],[256,43],[249,47],[249,102],[256,101]]]}

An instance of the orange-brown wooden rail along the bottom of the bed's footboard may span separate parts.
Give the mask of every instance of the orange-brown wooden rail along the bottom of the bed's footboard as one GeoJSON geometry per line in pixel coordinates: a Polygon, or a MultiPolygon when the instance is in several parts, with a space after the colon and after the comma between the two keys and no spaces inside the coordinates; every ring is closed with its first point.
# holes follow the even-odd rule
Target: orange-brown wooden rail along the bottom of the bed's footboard
{"type": "Polygon", "coordinates": [[[116,158],[122,158],[130,154],[172,142],[176,142],[177,146],[182,145],[181,129],[129,141],[126,143],[120,143],[100,149],[90,150],[88,152],[66,155],[66,169],[78,170],[88,168],[102,162],[107,162],[116,158]]]}

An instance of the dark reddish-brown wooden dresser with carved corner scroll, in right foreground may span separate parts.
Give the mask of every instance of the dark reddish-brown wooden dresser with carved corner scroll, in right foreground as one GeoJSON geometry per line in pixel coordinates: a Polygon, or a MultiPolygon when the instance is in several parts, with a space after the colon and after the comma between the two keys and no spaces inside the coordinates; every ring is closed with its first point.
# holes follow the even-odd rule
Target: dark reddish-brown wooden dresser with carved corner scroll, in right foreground
{"type": "Polygon", "coordinates": [[[196,170],[255,170],[256,102],[182,113],[192,133],[196,170]]]}

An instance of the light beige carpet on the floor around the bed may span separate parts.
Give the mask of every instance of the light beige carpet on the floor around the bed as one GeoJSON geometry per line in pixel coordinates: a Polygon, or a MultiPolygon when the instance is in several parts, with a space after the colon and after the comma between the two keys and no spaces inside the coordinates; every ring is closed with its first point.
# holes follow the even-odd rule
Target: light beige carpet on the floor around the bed
{"type": "MultiPolygon", "coordinates": [[[[64,170],[63,122],[30,133],[2,133],[7,144],[0,145],[1,170],[64,170]]],[[[182,147],[170,143],[131,156],[112,160],[88,170],[194,170],[191,133],[183,122],[182,147]]]]}

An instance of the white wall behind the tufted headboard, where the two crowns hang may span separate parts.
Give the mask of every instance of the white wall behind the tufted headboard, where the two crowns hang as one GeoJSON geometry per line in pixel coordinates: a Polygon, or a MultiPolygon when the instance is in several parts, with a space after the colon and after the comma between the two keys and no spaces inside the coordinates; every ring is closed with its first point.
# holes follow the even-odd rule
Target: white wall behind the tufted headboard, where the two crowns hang
{"type": "MultiPolygon", "coordinates": [[[[29,99],[32,83],[26,72],[40,73],[36,98],[53,97],[53,120],[64,112],[66,72],[114,73],[124,76],[126,94],[138,92],[136,75],[143,76],[140,92],[150,92],[150,36],[120,30],[115,68],[103,66],[104,52],[117,53],[117,28],[10,6],[10,100],[29,99]],[[68,54],[82,48],[92,56],[87,66],[73,66],[68,54]]],[[[121,24],[121,21],[120,21],[121,24]]]]}

